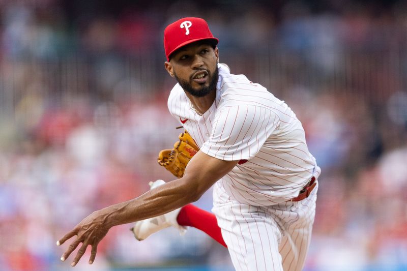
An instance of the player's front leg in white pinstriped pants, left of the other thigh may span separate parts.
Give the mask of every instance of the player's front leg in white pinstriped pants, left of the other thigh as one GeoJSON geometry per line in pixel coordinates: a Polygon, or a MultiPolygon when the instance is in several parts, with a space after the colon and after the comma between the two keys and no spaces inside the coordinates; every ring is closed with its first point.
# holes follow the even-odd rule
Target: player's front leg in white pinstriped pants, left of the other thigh
{"type": "Polygon", "coordinates": [[[230,200],[215,186],[213,211],[236,270],[283,271],[281,232],[263,208],[230,200]]]}

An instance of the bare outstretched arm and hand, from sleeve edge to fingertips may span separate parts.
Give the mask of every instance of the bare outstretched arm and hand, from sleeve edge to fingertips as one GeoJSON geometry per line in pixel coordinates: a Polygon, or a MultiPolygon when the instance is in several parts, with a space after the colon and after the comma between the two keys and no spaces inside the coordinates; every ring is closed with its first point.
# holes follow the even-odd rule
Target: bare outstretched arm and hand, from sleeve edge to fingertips
{"type": "Polygon", "coordinates": [[[86,248],[92,246],[89,263],[96,257],[97,246],[109,229],[115,225],[156,217],[198,200],[218,179],[236,166],[238,161],[224,161],[198,152],[188,163],[182,178],[168,182],[129,201],[110,205],[84,218],[57,245],[76,235],[65,251],[65,260],[80,243],[72,266],[80,260],[86,248]]]}

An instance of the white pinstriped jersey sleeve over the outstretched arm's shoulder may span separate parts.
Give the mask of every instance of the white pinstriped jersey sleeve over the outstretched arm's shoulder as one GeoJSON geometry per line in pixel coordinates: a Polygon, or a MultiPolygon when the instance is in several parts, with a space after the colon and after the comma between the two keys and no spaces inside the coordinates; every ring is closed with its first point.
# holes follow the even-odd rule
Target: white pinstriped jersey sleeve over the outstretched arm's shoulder
{"type": "Polygon", "coordinates": [[[200,150],[221,160],[249,160],[258,153],[279,122],[276,113],[261,106],[222,108],[215,116],[209,140],[200,150]]]}

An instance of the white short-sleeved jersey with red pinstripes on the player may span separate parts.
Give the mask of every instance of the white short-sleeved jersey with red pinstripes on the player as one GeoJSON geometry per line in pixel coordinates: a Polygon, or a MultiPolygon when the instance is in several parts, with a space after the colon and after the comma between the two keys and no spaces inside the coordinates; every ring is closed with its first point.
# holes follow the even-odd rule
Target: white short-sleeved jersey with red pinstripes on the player
{"type": "Polygon", "coordinates": [[[168,98],[170,113],[203,153],[241,160],[218,181],[230,197],[257,206],[296,197],[316,169],[300,121],[265,87],[218,67],[216,98],[209,110],[198,115],[176,84],[168,98]]]}

